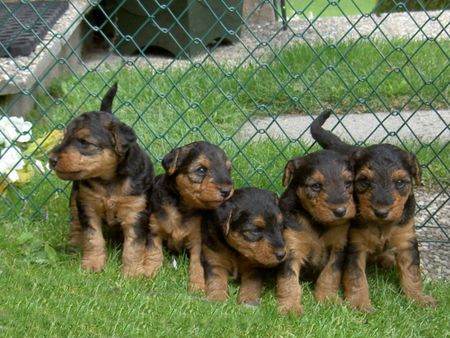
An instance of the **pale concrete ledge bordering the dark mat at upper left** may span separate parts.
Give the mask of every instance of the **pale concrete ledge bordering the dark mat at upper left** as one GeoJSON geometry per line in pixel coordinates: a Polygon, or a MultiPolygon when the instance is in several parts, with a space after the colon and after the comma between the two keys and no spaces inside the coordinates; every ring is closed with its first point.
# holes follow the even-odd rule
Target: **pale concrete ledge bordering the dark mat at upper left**
{"type": "Polygon", "coordinates": [[[0,58],[0,108],[10,115],[31,110],[36,90],[81,64],[81,22],[92,5],[73,0],[29,56],[0,58]],[[42,83],[42,84],[41,84],[42,83]]]}

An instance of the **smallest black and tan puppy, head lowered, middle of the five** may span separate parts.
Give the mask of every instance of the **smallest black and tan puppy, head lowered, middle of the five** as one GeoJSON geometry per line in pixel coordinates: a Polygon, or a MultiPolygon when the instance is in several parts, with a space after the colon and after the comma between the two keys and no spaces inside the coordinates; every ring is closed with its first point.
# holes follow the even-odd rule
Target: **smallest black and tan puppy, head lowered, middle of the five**
{"type": "Polygon", "coordinates": [[[228,296],[228,276],[240,277],[239,303],[259,302],[263,276],[286,257],[283,216],[273,192],[256,188],[235,191],[202,222],[202,258],[210,300],[228,296]]]}

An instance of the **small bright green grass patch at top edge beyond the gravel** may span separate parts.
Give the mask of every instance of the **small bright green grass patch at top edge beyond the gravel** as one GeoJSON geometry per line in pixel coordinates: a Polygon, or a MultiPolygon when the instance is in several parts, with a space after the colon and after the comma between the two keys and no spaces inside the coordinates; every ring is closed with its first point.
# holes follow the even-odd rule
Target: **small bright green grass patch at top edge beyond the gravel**
{"type": "Polygon", "coordinates": [[[370,13],[376,0],[287,0],[286,8],[289,14],[301,13],[308,18],[340,15],[361,15],[370,13]]]}

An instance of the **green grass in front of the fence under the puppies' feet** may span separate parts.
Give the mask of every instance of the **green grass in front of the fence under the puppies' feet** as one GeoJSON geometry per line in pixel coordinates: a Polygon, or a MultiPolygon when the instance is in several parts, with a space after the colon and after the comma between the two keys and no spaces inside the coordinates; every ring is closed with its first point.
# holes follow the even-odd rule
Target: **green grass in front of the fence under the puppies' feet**
{"type": "Polygon", "coordinates": [[[276,311],[270,283],[257,308],[230,299],[207,302],[186,291],[187,261],[166,255],[154,280],[124,279],[120,251],[110,247],[107,268],[94,274],[79,268],[79,252],[65,247],[67,217],[46,222],[0,223],[0,336],[159,337],[448,337],[450,282],[426,282],[437,309],[423,309],[399,292],[394,273],[370,270],[376,311],[361,314],[341,305],[318,305],[304,284],[302,317],[276,311]]]}

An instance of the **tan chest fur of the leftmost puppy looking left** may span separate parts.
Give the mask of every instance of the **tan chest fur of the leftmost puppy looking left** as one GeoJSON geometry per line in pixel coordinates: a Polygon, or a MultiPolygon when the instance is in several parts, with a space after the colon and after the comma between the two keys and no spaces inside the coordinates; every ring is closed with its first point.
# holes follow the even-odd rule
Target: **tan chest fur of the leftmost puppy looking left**
{"type": "Polygon", "coordinates": [[[110,226],[133,224],[139,212],[145,209],[145,197],[131,196],[129,192],[128,181],[107,188],[95,183],[91,184],[91,187],[80,187],[80,196],[86,211],[100,217],[110,226]]]}

